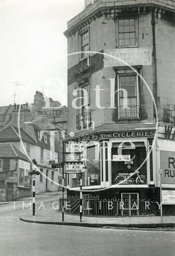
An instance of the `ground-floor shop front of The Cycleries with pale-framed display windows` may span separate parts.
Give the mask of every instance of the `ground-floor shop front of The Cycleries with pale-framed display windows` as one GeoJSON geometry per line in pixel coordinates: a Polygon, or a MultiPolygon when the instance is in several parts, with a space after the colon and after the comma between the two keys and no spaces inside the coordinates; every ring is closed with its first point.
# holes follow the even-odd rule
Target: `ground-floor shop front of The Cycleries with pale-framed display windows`
{"type": "MultiPolygon", "coordinates": [[[[155,130],[119,130],[96,132],[93,138],[98,140],[85,140],[87,135],[81,136],[81,140],[75,138],[74,143],[76,140],[83,143],[84,198],[97,197],[102,200],[102,205],[106,205],[105,200],[114,200],[118,204],[125,201],[127,206],[120,209],[119,215],[140,214],[140,202],[155,199],[157,156],[154,135],[155,130]]],[[[69,174],[68,179],[67,196],[78,197],[80,174],[69,174]]]]}

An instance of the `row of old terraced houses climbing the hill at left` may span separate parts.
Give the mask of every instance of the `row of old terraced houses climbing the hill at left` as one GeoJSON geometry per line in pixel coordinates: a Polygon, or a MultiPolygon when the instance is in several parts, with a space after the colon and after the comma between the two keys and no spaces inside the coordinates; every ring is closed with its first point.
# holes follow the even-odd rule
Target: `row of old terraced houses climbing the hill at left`
{"type": "Polygon", "coordinates": [[[51,164],[63,159],[61,131],[67,129],[67,108],[50,98],[47,101],[36,91],[33,104],[0,107],[1,201],[31,196],[29,171],[33,159],[40,170],[35,179],[36,194],[60,189],[62,168],[52,169],[51,164]]]}

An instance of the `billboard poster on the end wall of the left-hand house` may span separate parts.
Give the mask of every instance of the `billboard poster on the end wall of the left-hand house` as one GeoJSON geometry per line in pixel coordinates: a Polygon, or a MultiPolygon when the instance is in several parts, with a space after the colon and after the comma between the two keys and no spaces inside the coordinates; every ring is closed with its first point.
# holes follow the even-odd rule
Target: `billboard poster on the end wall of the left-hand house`
{"type": "Polygon", "coordinates": [[[30,163],[19,160],[18,186],[21,188],[29,188],[30,182],[30,163]]]}

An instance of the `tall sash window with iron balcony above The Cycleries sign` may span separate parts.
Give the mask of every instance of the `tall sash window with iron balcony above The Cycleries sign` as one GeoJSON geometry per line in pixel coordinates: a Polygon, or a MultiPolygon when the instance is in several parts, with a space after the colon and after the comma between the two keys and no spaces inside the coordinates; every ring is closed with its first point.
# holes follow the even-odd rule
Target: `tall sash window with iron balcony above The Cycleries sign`
{"type": "Polygon", "coordinates": [[[118,74],[118,119],[140,118],[139,86],[137,74],[118,74]]]}

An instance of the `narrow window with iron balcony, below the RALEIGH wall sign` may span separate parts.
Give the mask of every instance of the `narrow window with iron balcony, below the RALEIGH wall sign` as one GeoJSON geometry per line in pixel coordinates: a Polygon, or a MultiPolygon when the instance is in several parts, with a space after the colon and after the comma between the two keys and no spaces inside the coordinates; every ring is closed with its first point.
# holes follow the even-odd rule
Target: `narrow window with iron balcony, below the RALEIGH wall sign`
{"type": "Polygon", "coordinates": [[[80,108],[79,108],[79,114],[77,115],[77,129],[83,129],[87,127],[90,123],[89,82],[79,86],[78,98],[79,98],[78,107],[80,108]]]}

